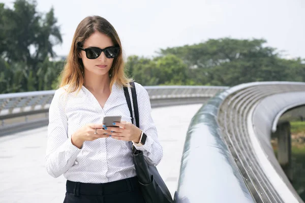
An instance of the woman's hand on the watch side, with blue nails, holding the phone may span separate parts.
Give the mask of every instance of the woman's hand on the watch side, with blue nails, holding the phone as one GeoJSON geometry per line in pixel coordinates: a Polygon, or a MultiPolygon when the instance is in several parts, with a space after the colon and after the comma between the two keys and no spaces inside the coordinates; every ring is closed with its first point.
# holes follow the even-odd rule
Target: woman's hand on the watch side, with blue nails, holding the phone
{"type": "Polygon", "coordinates": [[[137,126],[126,121],[116,122],[113,123],[113,125],[118,127],[107,127],[107,129],[104,128],[109,137],[116,140],[134,141],[135,143],[139,143],[142,130],[140,130],[137,126]]]}

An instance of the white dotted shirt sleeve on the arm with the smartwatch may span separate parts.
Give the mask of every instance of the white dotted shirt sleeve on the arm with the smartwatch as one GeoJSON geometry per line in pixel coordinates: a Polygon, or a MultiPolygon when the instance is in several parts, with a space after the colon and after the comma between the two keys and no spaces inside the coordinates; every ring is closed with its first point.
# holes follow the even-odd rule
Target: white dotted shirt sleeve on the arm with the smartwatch
{"type": "Polygon", "coordinates": [[[135,147],[137,150],[143,151],[147,161],[157,166],[163,157],[163,148],[158,140],[158,132],[155,123],[153,118],[151,118],[149,95],[142,85],[135,83],[135,87],[139,108],[140,129],[143,130],[147,136],[145,145],[135,147]]]}

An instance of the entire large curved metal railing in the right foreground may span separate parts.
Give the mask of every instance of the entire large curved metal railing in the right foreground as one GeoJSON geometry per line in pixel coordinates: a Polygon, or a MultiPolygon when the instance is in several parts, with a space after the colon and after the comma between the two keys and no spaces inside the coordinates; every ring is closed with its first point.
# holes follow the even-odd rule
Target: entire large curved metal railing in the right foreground
{"type": "Polygon", "coordinates": [[[175,202],[303,202],[270,138],[277,114],[304,98],[296,82],[242,84],[212,98],[189,127],[175,202]]]}

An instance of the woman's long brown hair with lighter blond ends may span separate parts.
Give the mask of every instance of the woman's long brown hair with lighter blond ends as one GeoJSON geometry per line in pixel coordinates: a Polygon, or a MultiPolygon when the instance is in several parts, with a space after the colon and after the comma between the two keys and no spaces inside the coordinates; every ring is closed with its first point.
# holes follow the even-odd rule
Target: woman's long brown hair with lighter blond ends
{"type": "Polygon", "coordinates": [[[119,53],[113,59],[112,67],[109,70],[109,74],[111,74],[110,90],[114,82],[120,86],[128,86],[128,83],[132,81],[132,79],[129,79],[125,75],[121,42],[114,27],[105,18],[100,16],[88,16],[78,24],[75,30],[71,49],[67,56],[67,63],[60,74],[59,87],[69,85],[67,89],[68,92],[79,91],[84,83],[84,66],[81,58],[78,57],[80,51],[79,46],[82,46],[85,40],[95,31],[107,35],[111,38],[115,46],[120,47],[119,53]]]}

